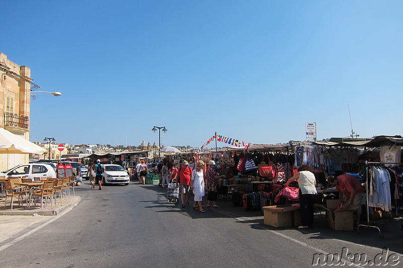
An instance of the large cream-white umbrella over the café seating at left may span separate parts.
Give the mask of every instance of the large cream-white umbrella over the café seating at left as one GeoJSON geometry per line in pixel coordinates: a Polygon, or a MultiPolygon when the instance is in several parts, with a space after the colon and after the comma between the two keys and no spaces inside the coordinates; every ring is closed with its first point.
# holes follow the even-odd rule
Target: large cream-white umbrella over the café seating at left
{"type": "Polygon", "coordinates": [[[30,142],[4,128],[0,128],[0,153],[37,153],[43,154],[46,149],[30,142]]]}

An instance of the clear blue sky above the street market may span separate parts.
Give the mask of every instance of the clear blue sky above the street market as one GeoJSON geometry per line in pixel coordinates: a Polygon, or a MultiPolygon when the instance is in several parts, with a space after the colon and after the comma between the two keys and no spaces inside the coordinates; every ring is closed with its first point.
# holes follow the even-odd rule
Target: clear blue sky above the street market
{"type": "Polygon", "coordinates": [[[4,1],[2,20],[0,52],[62,93],[31,101],[31,141],[348,137],[348,105],[360,138],[403,134],[401,1],[4,1]]]}

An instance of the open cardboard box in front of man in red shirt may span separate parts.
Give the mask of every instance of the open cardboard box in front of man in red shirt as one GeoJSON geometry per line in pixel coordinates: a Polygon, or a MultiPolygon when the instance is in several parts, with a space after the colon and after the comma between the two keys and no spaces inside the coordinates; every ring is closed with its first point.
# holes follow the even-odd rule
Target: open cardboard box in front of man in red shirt
{"type": "Polygon", "coordinates": [[[338,210],[338,200],[327,200],[326,210],[327,225],[336,231],[353,231],[354,228],[354,211],[358,209],[358,206],[350,205],[348,209],[338,210]]]}

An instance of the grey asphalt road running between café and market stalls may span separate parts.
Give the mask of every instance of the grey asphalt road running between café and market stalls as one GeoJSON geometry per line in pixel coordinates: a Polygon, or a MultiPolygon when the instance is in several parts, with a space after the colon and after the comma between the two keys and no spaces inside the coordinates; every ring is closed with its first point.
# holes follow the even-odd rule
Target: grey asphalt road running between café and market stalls
{"type": "Polygon", "coordinates": [[[182,209],[156,186],[84,185],[76,195],[82,201],[73,210],[1,250],[0,267],[311,267],[315,253],[346,246],[353,254],[380,253],[312,231],[265,226],[259,212],[228,201],[207,213],[193,210],[192,202],[182,209]]]}

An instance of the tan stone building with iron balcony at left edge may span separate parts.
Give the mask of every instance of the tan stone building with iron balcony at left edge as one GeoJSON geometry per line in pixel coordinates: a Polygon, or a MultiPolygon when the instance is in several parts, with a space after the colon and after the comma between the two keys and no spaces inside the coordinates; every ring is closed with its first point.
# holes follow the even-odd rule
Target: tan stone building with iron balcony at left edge
{"type": "MultiPolygon", "coordinates": [[[[29,140],[31,69],[0,53],[0,127],[29,140]]],[[[28,163],[28,154],[0,154],[0,170],[28,163]]]]}

